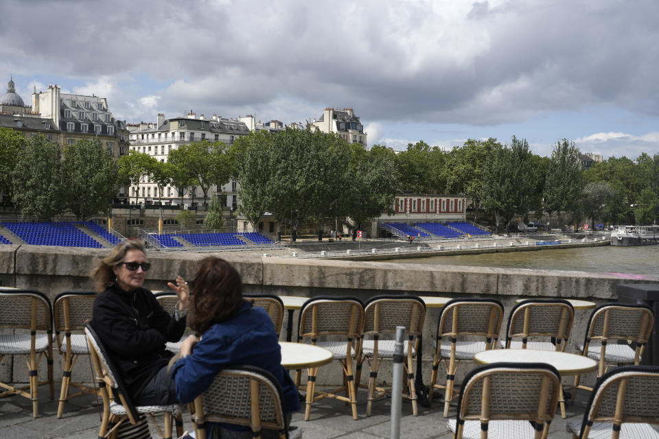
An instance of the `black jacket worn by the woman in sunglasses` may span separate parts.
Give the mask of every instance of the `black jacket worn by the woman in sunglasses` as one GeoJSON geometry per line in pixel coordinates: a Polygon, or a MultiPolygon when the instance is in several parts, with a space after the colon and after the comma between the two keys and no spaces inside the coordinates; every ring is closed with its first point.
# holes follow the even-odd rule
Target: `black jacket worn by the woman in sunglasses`
{"type": "Polygon", "coordinates": [[[185,317],[174,320],[148,289],[129,293],[116,285],[94,300],[91,324],[131,396],[167,366],[173,354],[165,342],[178,342],[185,332],[185,317]]]}

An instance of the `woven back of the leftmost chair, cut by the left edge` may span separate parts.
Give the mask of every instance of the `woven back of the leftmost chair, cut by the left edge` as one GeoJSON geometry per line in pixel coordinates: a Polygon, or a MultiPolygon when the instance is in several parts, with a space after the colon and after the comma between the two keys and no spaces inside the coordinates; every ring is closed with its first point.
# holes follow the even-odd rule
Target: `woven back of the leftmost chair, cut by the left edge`
{"type": "Polygon", "coordinates": [[[52,331],[50,300],[27,289],[0,290],[0,328],[52,331]]]}

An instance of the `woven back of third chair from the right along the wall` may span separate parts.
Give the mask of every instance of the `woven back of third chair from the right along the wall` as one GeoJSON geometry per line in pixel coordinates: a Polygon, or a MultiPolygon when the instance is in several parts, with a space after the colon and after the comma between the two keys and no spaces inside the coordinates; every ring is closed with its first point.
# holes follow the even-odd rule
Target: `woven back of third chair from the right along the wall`
{"type": "Polygon", "coordinates": [[[496,299],[453,299],[442,309],[437,337],[482,335],[498,338],[503,320],[503,305],[496,299]]]}

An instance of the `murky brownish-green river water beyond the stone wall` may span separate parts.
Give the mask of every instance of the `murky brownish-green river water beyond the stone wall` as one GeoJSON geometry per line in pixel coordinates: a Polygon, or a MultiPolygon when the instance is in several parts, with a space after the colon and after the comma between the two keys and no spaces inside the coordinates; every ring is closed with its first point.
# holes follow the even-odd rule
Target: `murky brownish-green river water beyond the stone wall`
{"type": "Polygon", "coordinates": [[[530,252],[502,252],[392,259],[387,262],[476,265],[500,268],[537,268],[585,272],[659,275],[659,245],[638,247],[583,247],[530,252]]]}

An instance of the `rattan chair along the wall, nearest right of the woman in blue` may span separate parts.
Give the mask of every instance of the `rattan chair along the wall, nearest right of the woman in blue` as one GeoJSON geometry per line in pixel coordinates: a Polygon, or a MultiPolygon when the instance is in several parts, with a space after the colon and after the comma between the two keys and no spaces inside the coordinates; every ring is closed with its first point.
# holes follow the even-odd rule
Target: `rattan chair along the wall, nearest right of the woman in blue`
{"type": "MultiPolygon", "coordinates": [[[[316,296],[302,305],[298,324],[298,341],[310,339],[311,344],[332,352],[343,368],[343,386],[322,392],[316,390],[318,368],[307,370],[306,407],[304,420],[311,416],[311,405],[323,398],[335,398],[350,403],[352,417],[357,419],[357,385],[354,376],[353,358],[356,358],[364,305],[361,300],[347,296],[316,296]],[[319,340],[323,337],[323,340],[319,340]],[[338,392],[346,392],[341,396],[338,392]]],[[[296,384],[300,386],[300,371],[297,371],[296,384]]]]}

